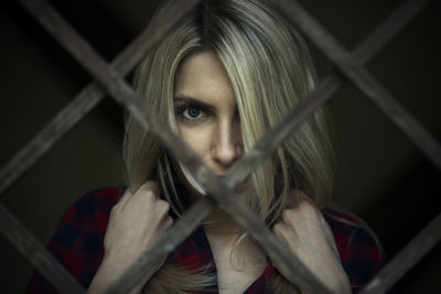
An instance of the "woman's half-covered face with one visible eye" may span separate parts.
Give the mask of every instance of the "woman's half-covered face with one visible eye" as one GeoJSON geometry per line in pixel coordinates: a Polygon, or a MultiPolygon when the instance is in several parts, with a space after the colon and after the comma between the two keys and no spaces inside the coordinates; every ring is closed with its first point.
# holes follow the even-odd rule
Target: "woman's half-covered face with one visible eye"
{"type": "Polygon", "coordinates": [[[212,52],[186,57],[176,74],[174,109],[181,138],[222,176],[243,153],[229,78],[212,52]]]}

